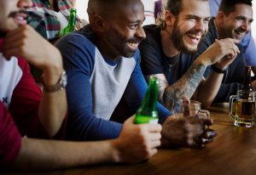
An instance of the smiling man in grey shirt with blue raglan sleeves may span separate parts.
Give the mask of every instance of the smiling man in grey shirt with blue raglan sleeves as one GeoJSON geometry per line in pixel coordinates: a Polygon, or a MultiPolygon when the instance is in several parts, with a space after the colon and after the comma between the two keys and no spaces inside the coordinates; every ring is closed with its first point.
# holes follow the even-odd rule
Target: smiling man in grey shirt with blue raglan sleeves
{"type": "MultiPolygon", "coordinates": [[[[137,49],[146,37],[143,3],[89,0],[87,12],[89,25],[55,43],[68,77],[67,138],[117,138],[123,127],[120,122],[128,115],[122,108],[120,122],[110,121],[113,110],[123,100],[135,114],[147,90],[137,49]]],[[[212,142],[215,133],[203,131],[204,123],[212,124],[210,119],[197,115],[177,120],[159,103],[157,110],[163,127],[162,146],[201,147],[212,142]]]]}

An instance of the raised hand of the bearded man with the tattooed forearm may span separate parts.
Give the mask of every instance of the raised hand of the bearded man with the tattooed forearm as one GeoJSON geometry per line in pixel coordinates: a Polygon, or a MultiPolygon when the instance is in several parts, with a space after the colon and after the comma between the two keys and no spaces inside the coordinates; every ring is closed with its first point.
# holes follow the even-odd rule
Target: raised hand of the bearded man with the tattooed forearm
{"type": "Polygon", "coordinates": [[[226,38],[216,40],[196,61],[204,65],[212,65],[218,62],[219,68],[226,68],[240,53],[236,46],[236,40],[226,38]]]}

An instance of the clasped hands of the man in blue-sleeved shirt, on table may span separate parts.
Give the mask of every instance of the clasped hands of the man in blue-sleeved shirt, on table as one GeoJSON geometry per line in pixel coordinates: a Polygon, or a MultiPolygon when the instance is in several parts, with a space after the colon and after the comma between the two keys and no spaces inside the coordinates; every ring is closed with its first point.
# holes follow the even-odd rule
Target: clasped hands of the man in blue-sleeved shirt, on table
{"type": "Polygon", "coordinates": [[[161,145],[165,148],[202,148],[205,144],[211,143],[217,135],[215,131],[205,128],[212,123],[211,119],[201,114],[182,119],[168,117],[162,126],[161,145]]]}

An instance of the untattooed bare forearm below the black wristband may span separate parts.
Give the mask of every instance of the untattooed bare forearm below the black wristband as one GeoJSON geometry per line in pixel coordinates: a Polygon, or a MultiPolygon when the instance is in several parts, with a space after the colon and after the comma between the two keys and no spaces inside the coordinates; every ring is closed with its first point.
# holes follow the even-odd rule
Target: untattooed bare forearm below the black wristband
{"type": "Polygon", "coordinates": [[[207,80],[202,82],[201,87],[198,89],[196,99],[201,102],[203,109],[207,109],[212,104],[212,101],[218,93],[223,77],[224,74],[211,71],[207,80]]]}

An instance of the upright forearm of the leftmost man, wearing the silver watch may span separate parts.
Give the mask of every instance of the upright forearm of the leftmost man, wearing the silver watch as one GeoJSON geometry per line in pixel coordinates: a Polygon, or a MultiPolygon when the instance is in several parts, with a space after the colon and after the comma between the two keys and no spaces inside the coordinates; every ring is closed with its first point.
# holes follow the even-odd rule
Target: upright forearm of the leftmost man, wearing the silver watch
{"type": "MultiPolygon", "coordinates": [[[[56,52],[56,58],[61,59],[61,54],[56,52]]],[[[55,86],[63,74],[62,62],[49,62],[43,69],[44,86],[55,86]]],[[[43,88],[42,99],[39,106],[39,119],[50,137],[61,128],[62,121],[67,113],[66,90],[59,89],[55,92],[46,92],[43,88]]]]}

